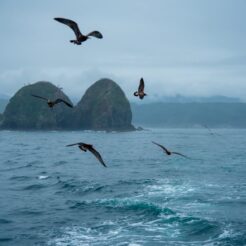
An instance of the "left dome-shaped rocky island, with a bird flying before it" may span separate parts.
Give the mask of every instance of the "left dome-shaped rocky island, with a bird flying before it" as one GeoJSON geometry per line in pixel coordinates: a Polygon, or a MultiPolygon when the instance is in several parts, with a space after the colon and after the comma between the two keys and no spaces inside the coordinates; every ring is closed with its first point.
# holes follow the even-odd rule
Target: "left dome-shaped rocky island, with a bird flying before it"
{"type": "Polygon", "coordinates": [[[69,98],[56,86],[49,82],[37,82],[21,88],[8,103],[2,121],[2,128],[7,129],[66,129],[70,127],[73,109],[63,103],[53,109],[46,101],[32,97],[36,94],[49,98],[69,98]]]}

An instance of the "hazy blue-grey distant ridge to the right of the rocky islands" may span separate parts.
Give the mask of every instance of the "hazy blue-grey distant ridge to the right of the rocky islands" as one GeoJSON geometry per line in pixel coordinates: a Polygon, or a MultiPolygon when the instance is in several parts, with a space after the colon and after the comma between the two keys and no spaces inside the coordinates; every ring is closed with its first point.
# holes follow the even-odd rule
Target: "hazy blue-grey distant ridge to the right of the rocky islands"
{"type": "Polygon", "coordinates": [[[246,128],[246,103],[151,103],[131,108],[135,125],[246,128]]]}

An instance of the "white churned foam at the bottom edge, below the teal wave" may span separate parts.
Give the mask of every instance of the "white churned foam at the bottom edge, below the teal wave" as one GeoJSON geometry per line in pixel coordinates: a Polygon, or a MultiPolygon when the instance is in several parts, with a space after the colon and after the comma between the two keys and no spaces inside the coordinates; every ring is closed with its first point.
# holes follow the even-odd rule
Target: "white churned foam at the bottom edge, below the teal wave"
{"type": "Polygon", "coordinates": [[[160,242],[165,238],[177,238],[180,231],[175,224],[161,224],[162,219],[148,222],[129,222],[129,217],[120,221],[104,221],[95,227],[74,226],[61,228],[61,235],[48,242],[50,246],[117,245],[139,246],[146,242],[160,242]],[[134,233],[134,231],[136,233],[134,233]]]}

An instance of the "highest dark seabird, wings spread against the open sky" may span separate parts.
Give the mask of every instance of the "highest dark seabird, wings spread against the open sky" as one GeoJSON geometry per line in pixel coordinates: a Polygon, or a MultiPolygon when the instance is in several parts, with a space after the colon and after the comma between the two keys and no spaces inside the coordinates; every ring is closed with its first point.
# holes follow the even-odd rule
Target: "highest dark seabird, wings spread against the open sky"
{"type": "Polygon", "coordinates": [[[83,35],[78,27],[78,24],[75,21],[65,19],[65,18],[54,18],[54,20],[61,22],[62,24],[65,24],[69,26],[75,33],[76,40],[70,40],[71,43],[81,45],[82,42],[86,41],[90,36],[102,39],[103,35],[99,31],[92,31],[88,33],[87,35],[83,35]]]}

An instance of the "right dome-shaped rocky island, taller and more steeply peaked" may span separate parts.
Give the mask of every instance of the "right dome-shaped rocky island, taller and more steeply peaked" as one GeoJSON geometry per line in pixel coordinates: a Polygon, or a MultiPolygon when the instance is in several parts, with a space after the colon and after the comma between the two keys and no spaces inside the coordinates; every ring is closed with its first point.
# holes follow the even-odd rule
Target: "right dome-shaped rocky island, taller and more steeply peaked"
{"type": "Polygon", "coordinates": [[[122,89],[110,79],[95,82],[75,109],[75,124],[87,130],[134,130],[132,112],[122,89]]]}

